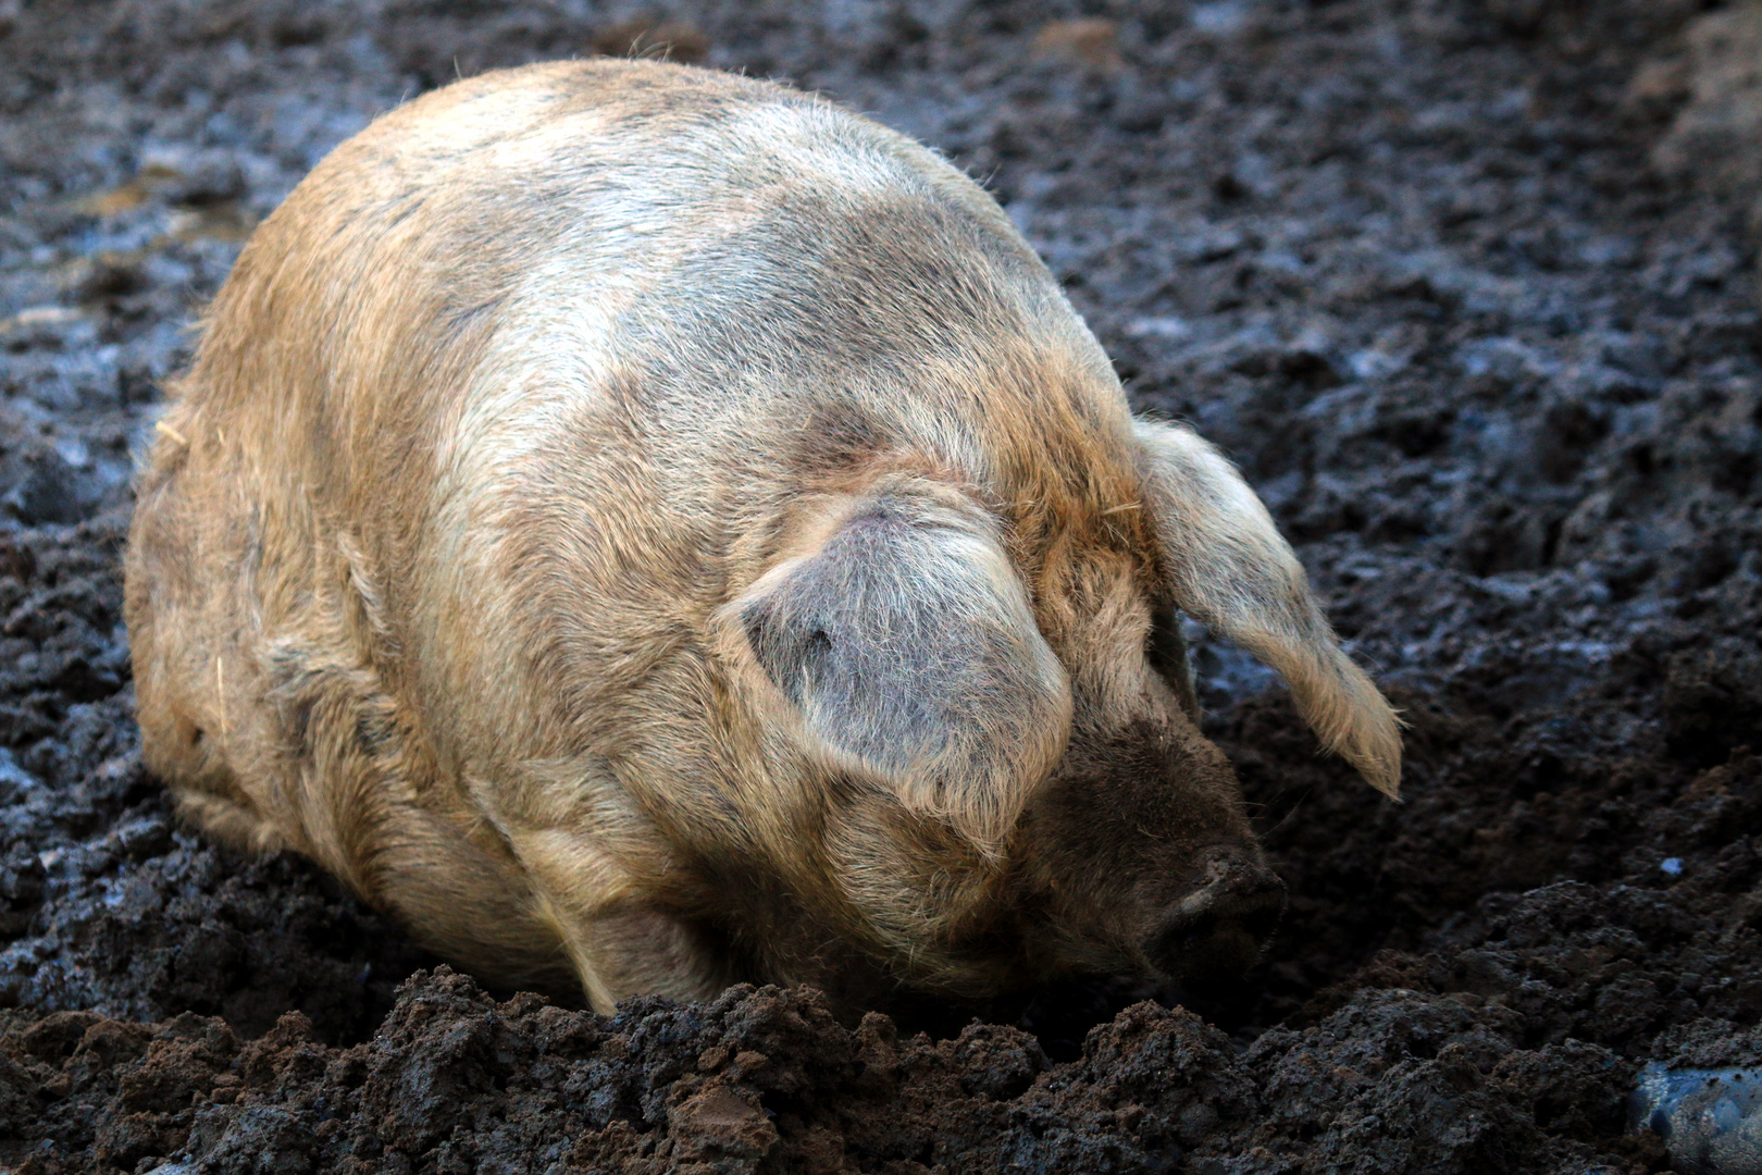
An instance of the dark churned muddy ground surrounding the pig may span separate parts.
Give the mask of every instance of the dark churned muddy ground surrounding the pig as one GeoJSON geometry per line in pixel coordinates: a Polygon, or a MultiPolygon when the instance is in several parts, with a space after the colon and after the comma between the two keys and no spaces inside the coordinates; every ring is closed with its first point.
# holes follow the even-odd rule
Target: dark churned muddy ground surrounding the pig
{"type": "Polygon", "coordinates": [[[1758,9],[9,0],[0,62],[0,1164],[1660,1171],[1639,1066],[1762,1060],[1758,9]],[[1406,708],[1397,807],[1198,650],[1292,890],[1244,983],[604,1020],[143,773],[130,453],[243,234],[403,97],[657,42],[983,176],[1406,708]]]}

